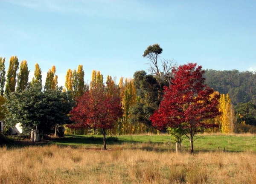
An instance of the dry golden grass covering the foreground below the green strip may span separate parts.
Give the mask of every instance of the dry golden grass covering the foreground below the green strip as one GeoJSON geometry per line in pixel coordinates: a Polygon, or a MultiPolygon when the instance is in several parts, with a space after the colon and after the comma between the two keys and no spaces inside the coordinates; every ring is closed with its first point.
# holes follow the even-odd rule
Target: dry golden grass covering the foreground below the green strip
{"type": "Polygon", "coordinates": [[[126,147],[2,147],[0,184],[256,184],[255,152],[177,155],[126,147]]]}

